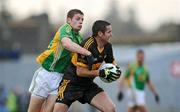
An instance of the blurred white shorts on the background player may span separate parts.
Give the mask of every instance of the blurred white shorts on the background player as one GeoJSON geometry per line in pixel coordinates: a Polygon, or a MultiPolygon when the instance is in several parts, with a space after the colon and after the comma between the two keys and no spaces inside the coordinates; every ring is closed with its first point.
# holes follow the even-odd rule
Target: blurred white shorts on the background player
{"type": "Polygon", "coordinates": [[[126,95],[127,95],[128,107],[145,105],[145,92],[144,91],[128,88],[126,95]]]}

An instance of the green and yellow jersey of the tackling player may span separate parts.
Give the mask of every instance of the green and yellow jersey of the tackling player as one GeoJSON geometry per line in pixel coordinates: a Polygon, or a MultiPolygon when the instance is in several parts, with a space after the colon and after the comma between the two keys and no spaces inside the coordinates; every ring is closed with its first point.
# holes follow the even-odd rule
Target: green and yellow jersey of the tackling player
{"type": "Polygon", "coordinates": [[[66,23],[56,32],[48,48],[37,57],[37,62],[48,71],[64,73],[64,70],[70,64],[72,53],[64,49],[61,40],[64,37],[70,38],[73,42],[80,44],[82,36],[79,32],[74,32],[72,27],[66,23]]]}

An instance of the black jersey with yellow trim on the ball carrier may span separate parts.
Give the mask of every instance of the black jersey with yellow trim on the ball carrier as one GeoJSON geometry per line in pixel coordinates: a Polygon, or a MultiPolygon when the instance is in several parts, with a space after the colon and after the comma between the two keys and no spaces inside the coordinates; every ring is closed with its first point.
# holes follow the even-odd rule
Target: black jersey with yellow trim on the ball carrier
{"type": "MultiPolygon", "coordinates": [[[[92,66],[93,70],[98,70],[103,62],[105,63],[115,63],[112,45],[107,43],[103,48],[98,48],[96,39],[93,37],[89,37],[85,39],[81,46],[89,50],[95,58],[94,64],[92,66]]],[[[94,78],[80,77],[76,74],[76,66],[86,67],[87,60],[84,55],[75,53],[71,59],[71,65],[68,67],[64,74],[64,79],[71,80],[73,83],[81,84],[81,85],[89,85],[93,82],[94,78]]]]}

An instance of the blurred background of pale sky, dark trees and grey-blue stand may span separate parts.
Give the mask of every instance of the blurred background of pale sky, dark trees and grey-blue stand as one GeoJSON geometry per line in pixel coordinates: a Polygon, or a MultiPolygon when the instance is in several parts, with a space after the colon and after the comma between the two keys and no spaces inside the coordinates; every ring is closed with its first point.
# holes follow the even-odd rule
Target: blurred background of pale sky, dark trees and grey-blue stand
{"type": "MultiPolygon", "coordinates": [[[[146,53],[150,77],[161,98],[157,105],[146,89],[150,112],[180,112],[180,0],[0,0],[0,112],[26,112],[28,88],[39,67],[36,56],[46,49],[70,9],[84,12],[84,38],[92,23],[112,24],[114,56],[124,70],[135,52],[146,53]]],[[[117,101],[118,82],[95,80],[117,106],[127,111],[126,100],[117,101]]],[[[70,112],[96,112],[75,103],[70,112]]]]}

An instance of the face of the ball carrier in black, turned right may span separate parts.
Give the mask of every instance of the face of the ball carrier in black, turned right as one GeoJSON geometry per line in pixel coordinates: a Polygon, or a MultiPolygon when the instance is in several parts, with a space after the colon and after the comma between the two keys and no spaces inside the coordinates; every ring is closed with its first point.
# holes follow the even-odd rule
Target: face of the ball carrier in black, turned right
{"type": "Polygon", "coordinates": [[[112,27],[111,25],[109,25],[109,26],[106,26],[106,31],[102,35],[102,40],[105,42],[109,42],[111,37],[112,37],[112,27]]]}

